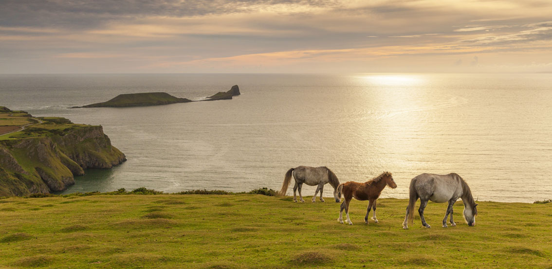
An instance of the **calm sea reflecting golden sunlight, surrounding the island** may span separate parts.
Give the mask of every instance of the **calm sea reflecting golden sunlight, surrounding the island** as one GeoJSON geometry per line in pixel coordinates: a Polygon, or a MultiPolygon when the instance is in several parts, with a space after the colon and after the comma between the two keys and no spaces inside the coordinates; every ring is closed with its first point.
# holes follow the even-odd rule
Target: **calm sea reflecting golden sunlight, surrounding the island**
{"type": "Polygon", "coordinates": [[[325,165],[342,182],[391,171],[399,187],[382,197],[407,198],[418,174],[455,172],[479,200],[533,202],[552,198],[550,85],[550,74],[0,75],[0,105],[102,125],[126,154],[66,192],[279,189],[289,168],[325,165]],[[234,84],[233,100],[67,109],[121,93],[201,98],[234,84]]]}

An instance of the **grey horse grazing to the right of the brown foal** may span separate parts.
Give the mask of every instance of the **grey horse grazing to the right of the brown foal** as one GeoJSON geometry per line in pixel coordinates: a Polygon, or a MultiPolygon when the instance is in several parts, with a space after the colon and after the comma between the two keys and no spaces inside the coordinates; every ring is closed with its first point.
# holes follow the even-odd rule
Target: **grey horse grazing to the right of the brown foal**
{"type": "Polygon", "coordinates": [[[453,205],[461,198],[464,202],[464,219],[469,226],[475,225],[475,216],[477,216],[477,204],[474,197],[471,196],[470,187],[466,181],[456,173],[448,175],[421,174],[410,181],[410,200],[406,207],[405,221],[402,223],[402,229],[408,229],[407,221],[414,223],[414,205],[420,198],[420,219],[423,227],[431,228],[423,217],[423,210],[427,206],[427,201],[436,203],[448,202],[447,213],[443,219],[443,227],[447,227],[447,217],[450,213],[450,226],[456,226],[452,219],[453,205]]]}

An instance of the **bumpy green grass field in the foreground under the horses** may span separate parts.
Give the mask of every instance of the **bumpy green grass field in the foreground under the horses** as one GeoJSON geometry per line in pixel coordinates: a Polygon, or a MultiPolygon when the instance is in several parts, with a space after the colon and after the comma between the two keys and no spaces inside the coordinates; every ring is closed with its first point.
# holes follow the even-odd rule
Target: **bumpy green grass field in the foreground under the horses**
{"type": "Polygon", "coordinates": [[[339,205],[261,195],[99,195],[0,200],[0,267],[552,268],[552,203],[480,202],[475,227],[441,228],[430,203],[402,230],[405,200],[380,199],[380,223],[337,223],[339,205]],[[301,263],[302,261],[307,261],[301,263]]]}

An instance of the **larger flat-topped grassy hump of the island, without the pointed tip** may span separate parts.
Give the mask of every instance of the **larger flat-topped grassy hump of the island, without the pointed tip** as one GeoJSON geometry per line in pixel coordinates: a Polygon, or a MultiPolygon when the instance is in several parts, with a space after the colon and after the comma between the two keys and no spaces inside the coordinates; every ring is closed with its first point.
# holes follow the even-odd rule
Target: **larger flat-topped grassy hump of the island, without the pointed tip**
{"type": "Polygon", "coordinates": [[[130,93],[119,94],[115,98],[91,105],[82,107],[125,107],[125,106],[148,106],[148,105],[164,105],[174,103],[187,103],[191,100],[186,98],[178,98],[168,93],[130,93]]]}

